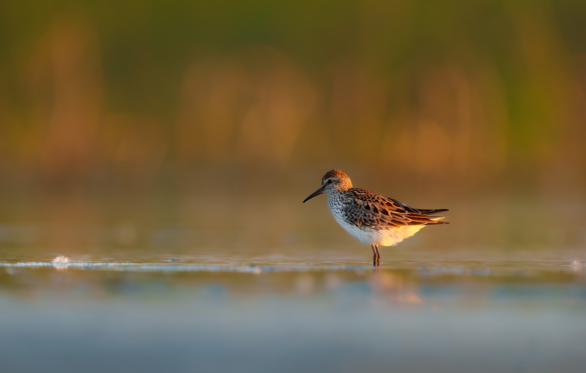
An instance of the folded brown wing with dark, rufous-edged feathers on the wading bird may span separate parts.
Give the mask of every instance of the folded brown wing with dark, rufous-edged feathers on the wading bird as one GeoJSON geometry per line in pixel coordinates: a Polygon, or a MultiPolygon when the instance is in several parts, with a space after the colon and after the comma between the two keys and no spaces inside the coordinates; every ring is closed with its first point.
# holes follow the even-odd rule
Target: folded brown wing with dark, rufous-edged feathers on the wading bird
{"type": "MultiPolygon", "coordinates": [[[[407,225],[445,224],[442,216],[428,216],[440,210],[415,209],[396,199],[364,189],[346,191],[343,211],[349,222],[374,229],[400,228],[407,225]]],[[[441,210],[444,211],[444,210],[441,210]]]]}

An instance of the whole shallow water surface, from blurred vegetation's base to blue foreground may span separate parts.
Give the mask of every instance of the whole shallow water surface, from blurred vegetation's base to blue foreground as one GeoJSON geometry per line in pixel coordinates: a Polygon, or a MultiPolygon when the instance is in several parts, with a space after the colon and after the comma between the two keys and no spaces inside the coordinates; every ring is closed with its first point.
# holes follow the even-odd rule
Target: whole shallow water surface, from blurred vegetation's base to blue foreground
{"type": "Polygon", "coordinates": [[[373,267],[306,193],[6,204],[0,371],[584,371],[580,209],[454,202],[373,267]]]}

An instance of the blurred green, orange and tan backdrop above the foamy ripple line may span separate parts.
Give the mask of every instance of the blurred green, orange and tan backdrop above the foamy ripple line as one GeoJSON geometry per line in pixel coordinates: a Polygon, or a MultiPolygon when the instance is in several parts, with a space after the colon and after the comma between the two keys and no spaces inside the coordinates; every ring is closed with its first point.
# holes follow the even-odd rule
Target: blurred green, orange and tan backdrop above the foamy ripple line
{"type": "Polygon", "coordinates": [[[1,2],[0,252],[369,259],[301,204],[340,168],[451,210],[407,248],[583,256],[584,25],[573,0],[1,2]]]}

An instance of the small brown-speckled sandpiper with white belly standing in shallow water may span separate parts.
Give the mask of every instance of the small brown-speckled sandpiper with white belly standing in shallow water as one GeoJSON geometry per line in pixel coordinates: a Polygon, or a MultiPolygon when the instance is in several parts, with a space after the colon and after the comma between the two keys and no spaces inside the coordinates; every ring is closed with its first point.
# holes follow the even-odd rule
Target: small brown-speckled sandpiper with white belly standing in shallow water
{"type": "Polygon", "coordinates": [[[372,247],[373,264],[380,263],[380,246],[394,246],[426,225],[448,224],[445,216],[432,216],[448,209],[416,209],[384,195],[354,188],[339,169],[331,169],[322,185],[303,202],[320,194],[328,195],[334,219],[355,239],[372,247]]]}

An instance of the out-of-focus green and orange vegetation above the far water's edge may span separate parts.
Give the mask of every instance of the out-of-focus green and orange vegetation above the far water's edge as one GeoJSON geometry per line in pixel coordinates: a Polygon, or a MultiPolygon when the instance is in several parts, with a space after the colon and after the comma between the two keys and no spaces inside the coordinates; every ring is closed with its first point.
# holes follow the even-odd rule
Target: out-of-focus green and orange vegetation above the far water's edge
{"type": "Polygon", "coordinates": [[[570,0],[6,1],[0,170],[315,165],[581,194],[584,25],[570,0]]]}

